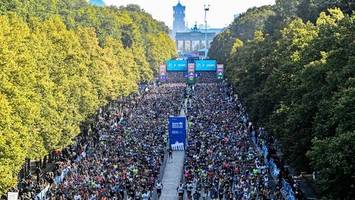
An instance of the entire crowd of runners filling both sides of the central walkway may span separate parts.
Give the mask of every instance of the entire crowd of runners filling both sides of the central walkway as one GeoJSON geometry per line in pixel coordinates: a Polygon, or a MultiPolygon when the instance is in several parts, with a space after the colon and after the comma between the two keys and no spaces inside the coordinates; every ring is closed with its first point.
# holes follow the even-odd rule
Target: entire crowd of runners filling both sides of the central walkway
{"type": "Polygon", "coordinates": [[[56,155],[53,170],[37,181],[20,182],[19,199],[156,199],[155,192],[159,196],[164,187],[164,155],[171,156],[167,119],[179,114],[186,98],[189,134],[178,195],[282,199],[257,148],[258,138],[265,137],[262,129],[248,121],[231,86],[215,73],[198,75],[197,84],[187,86],[183,73],[169,73],[164,84],[147,86],[100,111],[95,123],[56,155]]]}

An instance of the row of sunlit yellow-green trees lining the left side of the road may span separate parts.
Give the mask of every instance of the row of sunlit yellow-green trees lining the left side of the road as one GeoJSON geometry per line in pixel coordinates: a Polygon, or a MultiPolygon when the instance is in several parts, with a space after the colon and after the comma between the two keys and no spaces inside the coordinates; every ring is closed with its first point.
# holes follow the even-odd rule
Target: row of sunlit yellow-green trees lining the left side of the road
{"type": "Polygon", "coordinates": [[[1,1],[0,196],[25,158],[72,143],[80,123],[175,55],[168,28],[135,5],[1,1]]]}

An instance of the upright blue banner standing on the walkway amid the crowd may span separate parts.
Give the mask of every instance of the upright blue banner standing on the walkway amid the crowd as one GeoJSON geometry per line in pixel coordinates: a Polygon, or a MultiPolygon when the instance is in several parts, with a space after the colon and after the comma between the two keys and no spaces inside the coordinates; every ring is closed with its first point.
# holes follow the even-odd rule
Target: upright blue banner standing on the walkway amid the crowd
{"type": "Polygon", "coordinates": [[[183,151],[186,146],[186,117],[169,117],[169,145],[173,150],[183,151]]]}

